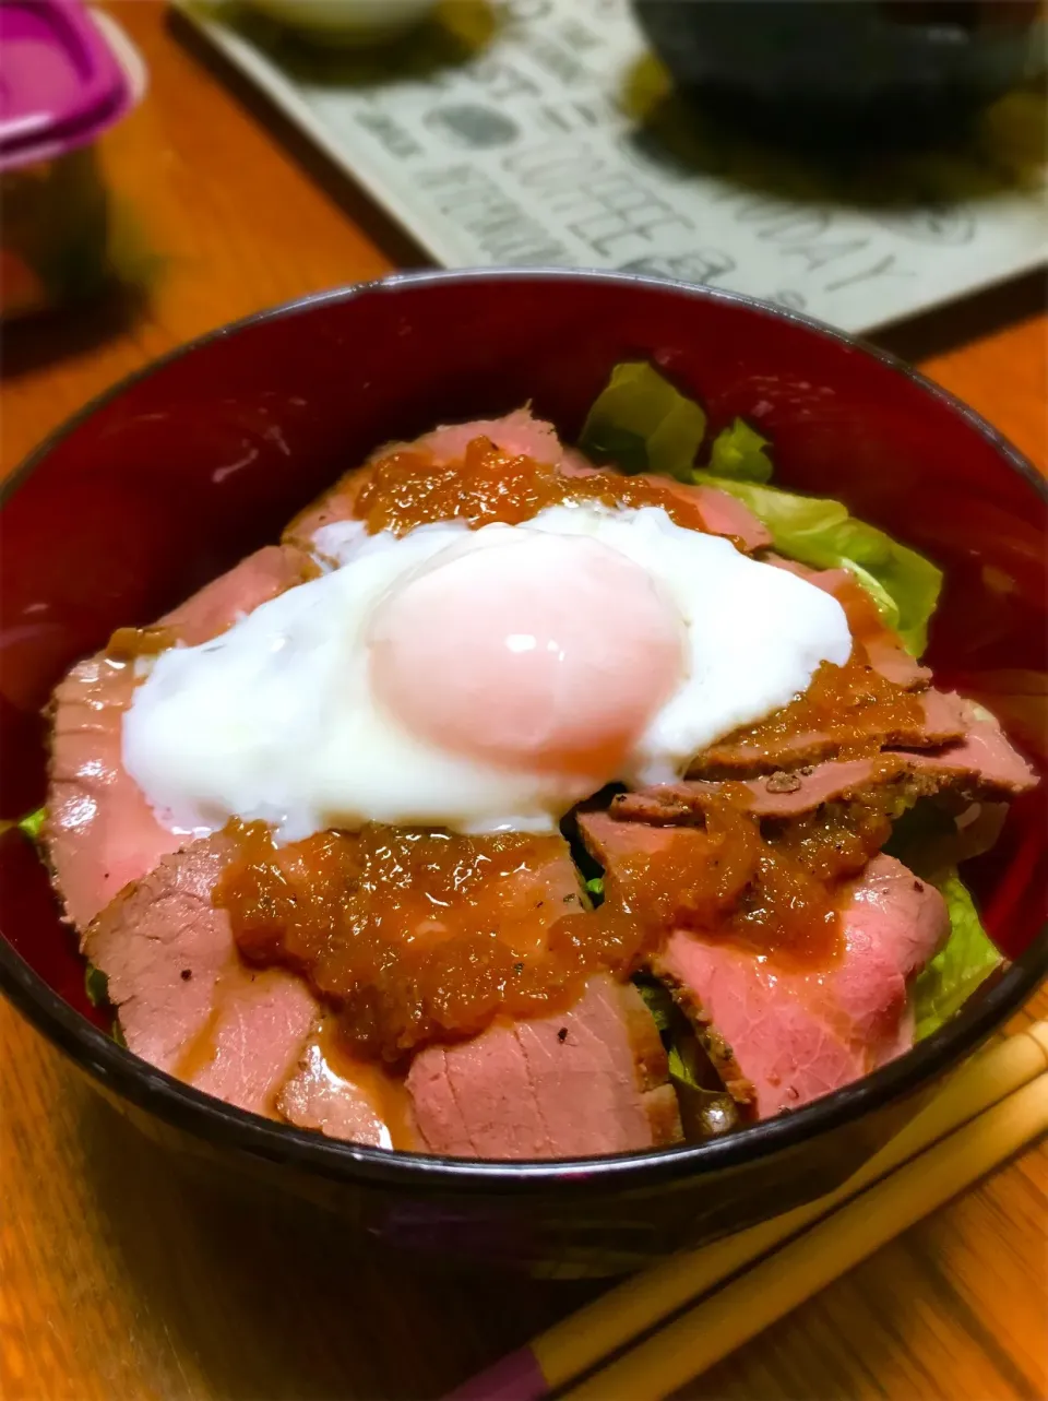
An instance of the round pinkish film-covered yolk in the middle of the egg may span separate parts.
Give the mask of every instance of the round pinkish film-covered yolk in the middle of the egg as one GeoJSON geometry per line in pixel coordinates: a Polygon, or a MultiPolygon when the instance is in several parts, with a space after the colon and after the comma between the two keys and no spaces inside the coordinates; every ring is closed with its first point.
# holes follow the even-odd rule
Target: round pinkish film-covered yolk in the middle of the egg
{"type": "Polygon", "coordinates": [[[625,555],[535,531],[395,588],[370,665],[378,700],[439,748],[604,783],[682,678],[684,622],[625,555]]]}

